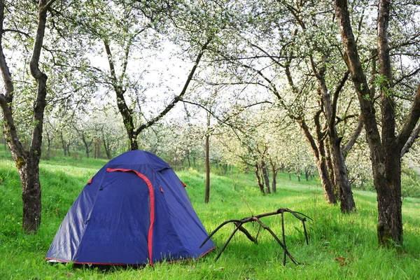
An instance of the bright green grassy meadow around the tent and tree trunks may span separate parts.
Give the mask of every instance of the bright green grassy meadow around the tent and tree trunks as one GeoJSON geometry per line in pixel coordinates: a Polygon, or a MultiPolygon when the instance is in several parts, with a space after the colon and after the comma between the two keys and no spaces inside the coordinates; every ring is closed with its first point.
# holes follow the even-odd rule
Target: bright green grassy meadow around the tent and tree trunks
{"type": "MultiPolygon", "coordinates": [[[[221,258],[214,258],[233,230],[219,230],[219,247],[195,261],[161,263],[142,268],[50,265],[45,254],[69,207],[85,183],[106,160],[50,158],[41,162],[43,214],[37,235],[22,232],[22,201],[18,172],[10,156],[0,155],[0,279],[420,279],[420,199],[402,204],[404,246],[379,248],[376,237],[376,195],[355,191],[358,214],[342,215],[325,203],[318,181],[297,182],[279,174],[277,193],[260,195],[253,174],[229,172],[211,176],[210,203],[204,204],[205,174],[177,172],[208,232],[232,218],[274,211],[300,211],[307,222],[309,246],[302,224],[285,214],[286,243],[301,265],[282,265],[283,251],[269,232],[260,230],[258,245],[238,232],[221,258]]],[[[262,218],[281,237],[280,216],[262,218]]],[[[254,236],[257,224],[245,227],[254,236]]]]}

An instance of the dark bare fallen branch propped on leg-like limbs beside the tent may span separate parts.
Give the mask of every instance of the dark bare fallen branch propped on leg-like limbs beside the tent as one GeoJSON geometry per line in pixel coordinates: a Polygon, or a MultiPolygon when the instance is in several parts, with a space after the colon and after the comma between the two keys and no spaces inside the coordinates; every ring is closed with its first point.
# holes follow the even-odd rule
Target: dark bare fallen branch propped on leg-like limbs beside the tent
{"type": "MultiPolygon", "coordinates": [[[[207,237],[203,243],[201,244],[200,248],[206,244],[206,242],[218,231],[220,230],[224,225],[227,225],[228,223],[233,223],[236,227],[235,230],[233,230],[232,234],[230,235],[230,237],[228,238],[228,241],[226,241],[225,245],[223,245],[223,248],[221,249],[221,251],[218,253],[218,255],[216,256],[216,259],[214,260],[215,262],[218,260],[218,258],[221,256],[221,254],[223,253],[223,251],[225,251],[225,248],[228,246],[230,240],[232,239],[232,237],[235,235],[235,233],[239,230],[241,232],[244,232],[244,234],[246,235],[246,237],[248,237],[248,239],[250,239],[251,241],[253,241],[253,243],[258,244],[258,235],[257,237],[253,237],[248,230],[246,230],[242,225],[244,225],[244,223],[249,223],[249,222],[257,222],[260,224],[261,228],[267,230],[273,237],[274,239],[276,239],[277,243],[279,243],[279,245],[281,246],[281,248],[283,248],[284,254],[283,254],[283,265],[286,265],[286,256],[288,256],[290,258],[290,260],[295,264],[298,265],[299,262],[297,262],[292,255],[290,255],[290,253],[288,252],[287,248],[286,248],[286,238],[284,236],[284,217],[283,214],[284,212],[288,212],[290,214],[292,214],[293,216],[295,216],[295,218],[297,218],[298,220],[302,221],[302,225],[303,225],[303,230],[304,230],[304,237],[306,239],[306,243],[309,244],[308,241],[308,235],[307,235],[307,229],[306,226],[304,224],[304,222],[306,222],[306,218],[309,218],[308,216],[300,213],[300,212],[295,212],[292,211],[290,209],[287,208],[279,208],[274,212],[269,212],[269,213],[264,213],[264,214],[260,214],[260,215],[256,215],[256,216],[251,216],[251,217],[246,217],[243,218],[241,220],[228,220],[225,221],[223,223],[221,223],[221,225],[219,225],[216,230],[214,230],[213,232],[211,232],[211,234],[209,235],[209,237],[207,237]],[[266,225],[264,225],[264,223],[262,223],[262,221],[260,221],[260,218],[262,217],[267,217],[267,216],[273,216],[273,215],[278,215],[281,214],[281,236],[283,237],[283,242],[280,241],[280,239],[274,234],[274,232],[268,228],[266,225]]],[[[311,218],[309,218],[309,220],[313,221],[311,218]]]]}

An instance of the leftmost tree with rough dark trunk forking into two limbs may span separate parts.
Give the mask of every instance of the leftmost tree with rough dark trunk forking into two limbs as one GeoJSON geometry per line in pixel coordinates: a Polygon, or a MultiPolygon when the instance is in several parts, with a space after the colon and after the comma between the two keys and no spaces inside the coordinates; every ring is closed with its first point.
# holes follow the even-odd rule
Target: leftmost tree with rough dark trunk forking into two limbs
{"type": "MultiPolygon", "coordinates": [[[[36,36],[34,36],[34,45],[31,50],[31,59],[29,61],[29,69],[32,78],[36,81],[36,94],[34,94],[33,112],[32,112],[32,128],[31,128],[31,144],[27,150],[22,146],[18,137],[18,130],[15,119],[13,117],[13,98],[15,92],[15,82],[10,72],[5,53],[6,32],[17,32],[27,35],[24,31],[15,30],[13,25],[6,27],[6,24],[13,22],[8,17],[13,14],[5,13],[5,0],[0,1],[0,69],[5,85],[5,92],[0,94],[0,106],[3,114],[3,132],[10,153],[18,168],[20,181],[22,182],[22,202],[23,217],[22,227],[25,232],[36,233],[41,224],[41,183],[39,181],[39,160],[41,158],[41,144],[43,132],[43,113],[45,110],[47,96],[47,79],[48,76],[40,69],[40,57],[43,48],[43,40],[45,36],[45,28],[48,17],[48,10],[55,0],[39,0],[38,1],[38,20],[36,24],[36,36]]],[[[19,4],[19,3],[17,3],[19,4]]],[[[27,3],[27,8],[31,9],[31,3],[27,3]]],[[[8,7],[13,10],[11,5],[8,7]]],[[[13,42],[15,43],[15,42],[13,42]]]]}

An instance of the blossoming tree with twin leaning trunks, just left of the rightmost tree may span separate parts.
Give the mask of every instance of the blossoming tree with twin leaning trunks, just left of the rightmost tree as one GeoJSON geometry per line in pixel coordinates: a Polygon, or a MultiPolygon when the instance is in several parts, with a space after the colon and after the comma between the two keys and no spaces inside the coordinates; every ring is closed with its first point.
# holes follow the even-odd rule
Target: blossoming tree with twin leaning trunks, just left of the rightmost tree
{"type": "Polygon", "coordinates": [[[329,37],[337,29],[331,29],[332,24],[326,20],[332,15],[330,4],[251,1],[247,5],[248,13],[241,10],[235,18],[244,30],[237,29],[228,47],[223,45],[217,52],[219,60],[231,64],[230,68],[236,67],[235,71],[230,70],[235,76],[230,84],[259,85],[271,92],[279,109],[287,111],[288,117],[300,125],[314,154],[326,200],[337,203],[330,177],[333,174],[342,212],[355,211],[341,151],[342,137],[337,132],[339,123],[354,116],[339,112],[342,107],[337,105],[349,73],[344,63],[335,64],[336,60],[342,61],[336,58],[337,39],[329,37]],[[261,10],[265,12],[260,13],[261,10]],[[318,29],[312,28],[312,22],[319,25],[318,29]],[[328,38],[323,38],[326,31],[328,38]],[[334,92],[331,100],[330,92],[334,92]],[[344,118],[338,118],[338,113],[344,118]],[[332,171],[325,160],[329,152],[327,141],[331,143],[328,146],[332,149],[332,171]]]}

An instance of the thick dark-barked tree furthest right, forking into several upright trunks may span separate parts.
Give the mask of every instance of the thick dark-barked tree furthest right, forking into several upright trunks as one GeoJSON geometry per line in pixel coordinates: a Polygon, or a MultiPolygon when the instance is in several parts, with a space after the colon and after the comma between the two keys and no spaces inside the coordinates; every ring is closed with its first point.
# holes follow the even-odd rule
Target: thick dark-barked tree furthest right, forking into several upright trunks
{"type": "MultiPolygon", "coordinates": [[[[418,30],[416,23],[411,22],[404,27],[405,41],[392,41],[392,34],[388,31],[389,25],[398,28],[398,20],[392,21],[391,1],[379,0],[376,20],[377,46],[375,57],[379,63],[379,75],[376,77],[376,85],[379,87],[380,96],[374,96],[369,83],[367,73],[363,69],[363,61],[360,59],[360,44],[353,33],[351,22],[351,11],[346,0],[335,0],[335,14],[341,32],[342,44],[344,46],[344,60],[351,73],[354,89],[356,90],[360,111],[365,123],[367,143],[370,149],[370,160],[372,161],[372,172],[374,187],[377,191],[378,202],[378,224],[377,236],[379,244],[390,245],[402,244],[402,213],[401,213],[401,152],[407,143],[414,127],[420,118],[420,85],[415,94],[410,94],[412,99],[411,109],[405,116],[405,122],[396,130],[396,111],[398,102],[405,103],[398,96],[398,58],[393,57],[396,50],[407,50],[406,55],[410,56],[410,50],[414,45],[419,45],[418,30]],[[394,43],[395,49],[391,48],[394,43]],[[410,48],[411,47],[411,48],[410,48]],[[380,101],[380,116],[377,116],[375,106],[376,99],[380,101]],[[380,119],[380,124],[377,123],[380,119]],[[381,128],[379,128],[379,125],[381,128]]],[[[419,15],[419,6],[415,4],[404,6],[404,9],[414,9],[419,15]]],[[[396,13],[398,14],[398,13],[396,13]]],[[[398,33],[398,32],[395,32],[398,33]]],[[[398,38],[397,38],[398,39],[398,38]]],[[[400,65],[403,65],[402,63],[400,65]]],[[[401,73],[407,73],[402,78],[409,78],[418,73],[420,67],[407,73],[407,69],[399,69],[401,73]]],[[[407,104],[406,104],[407,105],[407,104]]]]}

